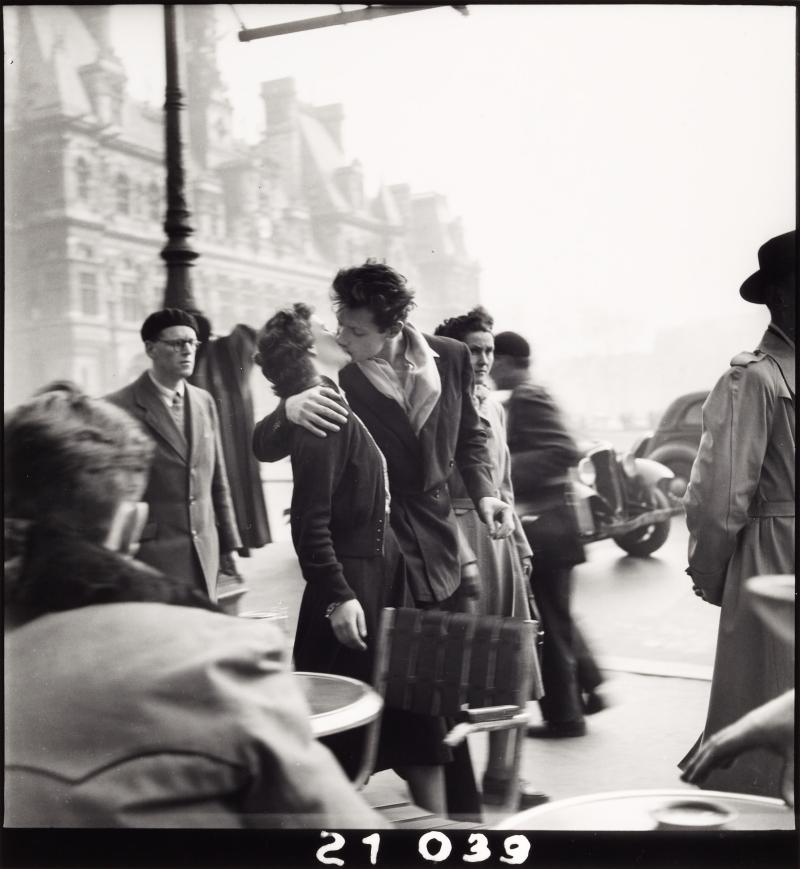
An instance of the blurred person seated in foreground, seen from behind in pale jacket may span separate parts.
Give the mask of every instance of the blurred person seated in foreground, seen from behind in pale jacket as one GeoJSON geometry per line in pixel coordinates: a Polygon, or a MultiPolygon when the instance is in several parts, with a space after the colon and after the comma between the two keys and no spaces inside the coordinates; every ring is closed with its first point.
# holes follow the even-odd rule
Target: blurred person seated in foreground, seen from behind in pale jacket
{"type": "Polygon", "coordinates": [[[312,738],[282,634],[130,558],[152,453],[74,388],[6,414],[5,823],[384,826],[312,738]]]}

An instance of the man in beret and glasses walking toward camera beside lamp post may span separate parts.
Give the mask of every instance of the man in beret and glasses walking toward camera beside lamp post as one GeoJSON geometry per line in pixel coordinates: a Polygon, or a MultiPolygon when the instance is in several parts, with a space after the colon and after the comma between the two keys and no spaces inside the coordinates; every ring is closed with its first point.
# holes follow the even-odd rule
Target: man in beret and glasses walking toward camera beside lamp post
{"type": "Polygon", "coordinates": [[[214,400],[186,382],[194,370],[198,325],[186,311],[164,308],[144,321],[141,336],[151,368],[107,396],[156,442],[144,494],[150,512],[136,557],[168,576],[192,580],[216,600],[220,563],[236,574],[235,550],[242,544],[214,400]]]}

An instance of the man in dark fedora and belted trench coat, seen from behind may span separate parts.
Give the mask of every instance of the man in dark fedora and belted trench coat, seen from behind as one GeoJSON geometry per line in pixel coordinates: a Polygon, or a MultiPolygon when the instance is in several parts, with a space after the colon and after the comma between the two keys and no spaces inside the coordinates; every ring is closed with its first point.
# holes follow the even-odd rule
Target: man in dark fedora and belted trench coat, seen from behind
{"type": "MultiPolygon", "coordinates": [[[[722,608],[708,717],[698,744],[794,686],[794,662],[761,626],[743,583],[794,573],[796,232],[758,251],[740,289],[771,319],[758,347],[739,353],[703,405],[703,436],[684,504],[695,592],[722,608]]],[[[780,794],[780,762],[768,752],[715,770],[704,787],[780,794]]]]}

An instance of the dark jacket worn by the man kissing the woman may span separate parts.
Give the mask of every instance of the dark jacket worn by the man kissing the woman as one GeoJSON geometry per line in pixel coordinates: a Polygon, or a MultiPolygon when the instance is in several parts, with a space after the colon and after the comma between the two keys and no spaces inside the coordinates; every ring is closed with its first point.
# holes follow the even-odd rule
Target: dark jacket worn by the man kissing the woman
{"type": "MultiPolygon", "coordinates": [[[[442,393],[417,436],[405,411],[378,392],[350,363],[339,383],[386,458],[391,493],[391,525],[408,566],[418,602],[442,601],[460,583],[458,532],[447,481],[457,465],[470,497],[495,494],[484,431],[472,403],[472,365],[466,345],[425,335],[438,354],[442,393]]],[[[253,451],[265,462],[288,453],[284,403],[256,424],[253,451]]],[[[336,437],[336,435],[328,435],[336,437]]]]}

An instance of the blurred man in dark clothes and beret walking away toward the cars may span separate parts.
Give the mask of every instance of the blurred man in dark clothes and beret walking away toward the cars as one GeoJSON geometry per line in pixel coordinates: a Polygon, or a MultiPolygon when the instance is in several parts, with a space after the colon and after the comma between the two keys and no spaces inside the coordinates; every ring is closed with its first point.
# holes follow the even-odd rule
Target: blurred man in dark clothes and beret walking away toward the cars
{"type": "Polygon", "coordinates": [[[529,727],[528,736],[583,736],[584,713],[599,712],[605,701],[596,690],[602,676],[570,612],[572,568],[585,556],[566,500],[567,470],[580,453],[552,396],[531,378],[525,338],[500,332],[494,353],[492,379],[498,389],[511,390],[506,403],[511,481],[533,550],[531,588],[544,627],[539,701],[544,724],[529,727]]]}

